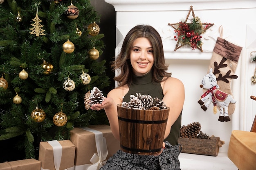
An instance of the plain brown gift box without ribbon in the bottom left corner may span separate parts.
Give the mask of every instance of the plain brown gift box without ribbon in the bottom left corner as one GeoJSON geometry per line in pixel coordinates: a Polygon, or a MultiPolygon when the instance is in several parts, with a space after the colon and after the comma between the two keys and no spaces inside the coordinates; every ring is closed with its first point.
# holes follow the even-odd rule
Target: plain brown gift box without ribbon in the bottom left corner
{"type": "Polygon", "coordinates": [[[41,162],[36,159],[23,159],[0,163],[0,170],[41,170],[41,162]]]}

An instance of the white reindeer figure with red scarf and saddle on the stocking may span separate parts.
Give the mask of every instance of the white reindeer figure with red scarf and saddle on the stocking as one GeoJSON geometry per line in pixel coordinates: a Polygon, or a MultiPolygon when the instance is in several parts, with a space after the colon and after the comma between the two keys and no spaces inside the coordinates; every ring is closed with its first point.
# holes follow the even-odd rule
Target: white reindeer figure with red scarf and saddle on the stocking
{"type": "Polygon", "coordinates": [[[207,91],[202,94],[201,99],[198,100],[198,103],[201,105],[201,108],[206,111],[211,104],[213,103],[213,113],[217,113],[216,106],[220,107],[220,122],[230,121],[228,106],[229,103],[235,103],[235,99],[230,94],[220,91],[218,88],[216,76],[212,73],[212,68],[209,73],[204,76],[202,79],[201,88],[207,89],[207,91]]]}

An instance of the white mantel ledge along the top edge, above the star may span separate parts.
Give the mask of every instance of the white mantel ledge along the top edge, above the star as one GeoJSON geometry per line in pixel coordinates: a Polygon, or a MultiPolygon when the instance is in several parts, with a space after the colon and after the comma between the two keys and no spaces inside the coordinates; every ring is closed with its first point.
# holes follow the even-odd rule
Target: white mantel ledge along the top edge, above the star
{"type": "Polygon", "coordinates": [[[254,0],[105,0],[116,11],[178,11],[186,10],[191,4],[202,9],[255,8],[254,0]]]}

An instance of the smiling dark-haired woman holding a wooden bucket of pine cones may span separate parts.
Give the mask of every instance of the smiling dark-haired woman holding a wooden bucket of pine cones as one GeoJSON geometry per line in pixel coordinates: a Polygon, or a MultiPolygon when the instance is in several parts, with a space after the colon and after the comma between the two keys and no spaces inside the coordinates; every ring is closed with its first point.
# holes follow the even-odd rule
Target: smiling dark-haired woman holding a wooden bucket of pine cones
{"type": "Polygon", "coordinates": [[[159,155],[135,155],[119,150],[100,170],[179,170],[181,112],[184,85],[168,73],[162,39],[152,26],[138,25],[126,35],[121,52],[112,64],[119,75],[114,78],[119,87],[112,89],[101,104],[91,109],[105,109],[115,138],[119,139],[117,104],[129,102],[130,95],[140,93],[163,100],[170,113],[163,149],[159,155]]]}

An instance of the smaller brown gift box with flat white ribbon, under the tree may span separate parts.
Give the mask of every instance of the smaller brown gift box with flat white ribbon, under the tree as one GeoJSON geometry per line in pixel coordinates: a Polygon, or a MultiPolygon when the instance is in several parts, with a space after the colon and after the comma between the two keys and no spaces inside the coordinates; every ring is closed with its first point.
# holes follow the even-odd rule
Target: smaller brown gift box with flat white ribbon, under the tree
{"type": "Polygon", "coordinates": [[[73,170],[76,147],[70,140],[40,142],[42,170],[73,170]]]}

